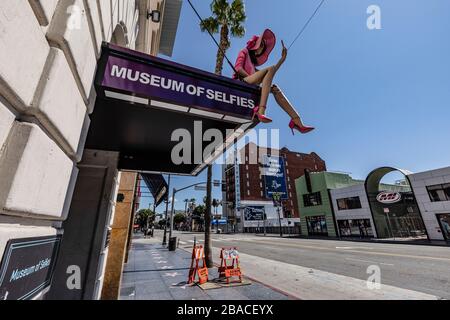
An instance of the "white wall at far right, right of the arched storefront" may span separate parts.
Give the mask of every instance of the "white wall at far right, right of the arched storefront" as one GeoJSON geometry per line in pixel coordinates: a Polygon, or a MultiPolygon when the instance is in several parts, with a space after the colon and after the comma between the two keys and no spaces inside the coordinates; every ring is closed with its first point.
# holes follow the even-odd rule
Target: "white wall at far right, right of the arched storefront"
{"type": "Polygon", "coordinates": [[[450,167],[408,175],[431,240],[444,240],[436,214],[450,213],[450,201],[431,202],[427,187],[450,183],[450,167]]]}

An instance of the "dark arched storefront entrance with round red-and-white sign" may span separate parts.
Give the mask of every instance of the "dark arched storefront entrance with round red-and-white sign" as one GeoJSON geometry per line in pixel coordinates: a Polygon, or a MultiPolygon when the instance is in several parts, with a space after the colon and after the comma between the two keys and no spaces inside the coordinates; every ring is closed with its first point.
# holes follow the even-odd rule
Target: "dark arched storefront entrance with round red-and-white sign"
{"type": "Polygon", "coordinates": [[[428,238],[411,188],[408,177],[410,174],[406,170],[382,167],[372,171],[367,177],[365,188],[379,238],[428,238]],[[403,183],[381,183],[391,172],[400,172],[405,177],[403,183]]]}

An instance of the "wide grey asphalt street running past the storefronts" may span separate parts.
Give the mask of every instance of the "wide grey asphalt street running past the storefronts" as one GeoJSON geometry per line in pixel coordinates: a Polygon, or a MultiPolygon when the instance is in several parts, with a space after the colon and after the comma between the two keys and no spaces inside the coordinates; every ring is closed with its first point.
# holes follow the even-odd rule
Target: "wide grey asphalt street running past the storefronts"
{"type": "MultiPolygon", "coordinates": [[[[201,233],[174,236],[185,250],[194,238],[199,243],[204,238],[201,233]]],[[[448,247],[249,234],[213,234],[212,245],[215,262],[221,247],[238,247],[247,276],[299,299],[450,299],[448,247]],[[381,290],[367,289],[369,266],[380,268],[381,290]]]]}

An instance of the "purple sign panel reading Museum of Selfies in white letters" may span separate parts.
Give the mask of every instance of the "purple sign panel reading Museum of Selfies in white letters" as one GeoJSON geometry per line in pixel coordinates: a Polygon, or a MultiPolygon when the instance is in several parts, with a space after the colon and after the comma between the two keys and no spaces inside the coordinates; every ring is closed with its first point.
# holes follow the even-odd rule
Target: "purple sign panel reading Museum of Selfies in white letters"
{"type": "MultiPolygon", "coordinates": [[[[187,70],[193,73],[195,69],[187,70]]],[[[177,72],[177,68],[170,64],[169,68],[161,68],[111,55],[106,63],[102,86],[167,103],[250,118],[259,101],[256,91],[239,90],[239,84],[232,86],[227,84],[228,81],[220,81],[221,77],[215,79],[219,80],[211,81],[200,72],[189,76],[177,72]]]]}

